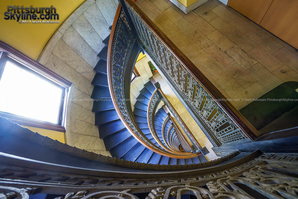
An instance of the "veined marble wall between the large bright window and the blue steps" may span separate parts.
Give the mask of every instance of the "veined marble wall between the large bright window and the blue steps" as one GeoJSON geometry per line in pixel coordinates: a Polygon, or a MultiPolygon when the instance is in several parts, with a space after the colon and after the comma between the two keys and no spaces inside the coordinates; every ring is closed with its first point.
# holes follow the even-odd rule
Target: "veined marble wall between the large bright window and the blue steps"
{"type": "MultiPolygon", "coordinates": [[[[105,150],[95,126],[91,82],[96,74],[93,68],[100,60],[97,54],[110,34],[117,5],[117,0],[85,1],[61,24],[38,57],[41,64],[72,82],[66,110],[66,143],[106,156],[111,154],[105,150]]],[[[140,73],[143,71],[141,68],[140,73]]],[[[142,78],[138,79],[135,85],[139,86],[142,78]]]]}

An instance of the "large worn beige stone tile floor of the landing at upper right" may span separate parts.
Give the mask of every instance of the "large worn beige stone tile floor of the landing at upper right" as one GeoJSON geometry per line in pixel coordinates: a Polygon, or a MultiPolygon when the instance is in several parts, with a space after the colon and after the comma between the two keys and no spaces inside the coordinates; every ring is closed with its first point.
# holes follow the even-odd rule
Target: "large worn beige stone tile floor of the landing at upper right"
{"type": "Polygon", "coordinates": [[[217,0],[187,15],[168,0],[136,4],[238,110],[298,80],[295,48],[217,0]]]}

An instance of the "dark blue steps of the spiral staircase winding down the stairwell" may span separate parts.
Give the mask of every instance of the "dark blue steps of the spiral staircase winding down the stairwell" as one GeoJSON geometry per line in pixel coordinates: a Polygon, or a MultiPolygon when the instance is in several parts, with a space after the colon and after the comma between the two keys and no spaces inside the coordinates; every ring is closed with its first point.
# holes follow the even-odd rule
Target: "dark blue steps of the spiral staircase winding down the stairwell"
{"type": "MultiPolygon", "coordinates": [[[[103,42],[105,47],[98,54],[98,61],[94,70],[97,72],[92,84],[94,85],[91,97],[94,99],[93,109],[95,112],[95,125],[98,125],[100,138],[105,143],[106,150],[109,150],[112,157],[124,159],[128,161],[142,162],[148,164],[193,164],[205,162],[207,159],[203,156],[193,158],[170,158],[153,152],[147,147],[139,143],[134,136],[125,128],[125,125],[120,120],[117,111],[114,108],[110,91],[108,88],[107,78],[107,55],[108,55],[108,40],[103,42]]],[[[134,105],[134,118],[136,119],[139,128],[144,135],[156,146],[161,146],[155,141],[147,123],[147,109],[154,90],[154,85],[148,81],[144,88],[140,91],[137,101],[134,105]]],[[[155,115],[155,128],[159,138],[162,140],[162,124],[167,114],[163,109],[159,109],[155,115]]],[[[168,128],[167,128],[168,130],[168,128]]],[[[173,130],[172,130],[173,131],[173,130]]],[[[174,137],[173,137],[174,138],[174,137]]],[[[162,141],[164,144],[164,141],[162,141]]]]}

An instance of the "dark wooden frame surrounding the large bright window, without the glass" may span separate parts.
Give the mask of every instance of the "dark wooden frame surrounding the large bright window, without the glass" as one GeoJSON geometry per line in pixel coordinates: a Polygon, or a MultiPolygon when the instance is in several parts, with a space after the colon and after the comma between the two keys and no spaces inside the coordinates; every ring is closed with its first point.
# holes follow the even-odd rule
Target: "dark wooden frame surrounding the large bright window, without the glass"
{"type": "Polygon", "coordinates": [[[23,53],[19,52],[17,49],[13,48],[7,43],[0,41],[0,80],[7,61],[16,64],[18,67],[26,71],[29,71],[30,73],[40,76],[45,80],[50,81],[51,83],[54,83],[55,85],[58,85],[59,87],[65,90],[61,96],[59,111],[59,116],[61,117],[61,119],[58,122],[58,124],[44,122],[37,119],[31,119],[24,116],[7,113],[4,111],[0,111],[0,116],[9,119],[11,122],[16,122],[19,125],[65,132],[66,130],[64,127],[64,123],[66,113],[66,101],[68,97],[68,89],[70,88],[72,83],[64,79],[60,75],[56,74],[55,72],[47,69],[41,63],[38,63],[37,61],[33,60],[27,55],[24,55],[23,53]]]}

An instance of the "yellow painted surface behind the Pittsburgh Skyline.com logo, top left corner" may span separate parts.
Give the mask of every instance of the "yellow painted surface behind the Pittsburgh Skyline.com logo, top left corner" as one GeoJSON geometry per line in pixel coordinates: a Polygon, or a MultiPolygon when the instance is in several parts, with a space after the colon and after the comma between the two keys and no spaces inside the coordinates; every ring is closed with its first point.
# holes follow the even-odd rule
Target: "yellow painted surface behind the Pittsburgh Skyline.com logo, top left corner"
{"type": "MultiPolygon", "coordinates": [[[[46,42],[60,24],[84,0],[0,0],[0,40],[37,60],[46,42]],[[19,24],[16,20],[5,20],[4,12],[8,5],[20,7],[53,7],[59,14],[59,24],[19,24]]],[[[39,15],[39,14],[38,14],[39,15]]]]}

